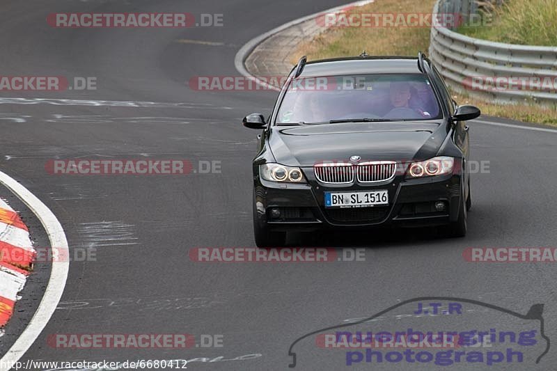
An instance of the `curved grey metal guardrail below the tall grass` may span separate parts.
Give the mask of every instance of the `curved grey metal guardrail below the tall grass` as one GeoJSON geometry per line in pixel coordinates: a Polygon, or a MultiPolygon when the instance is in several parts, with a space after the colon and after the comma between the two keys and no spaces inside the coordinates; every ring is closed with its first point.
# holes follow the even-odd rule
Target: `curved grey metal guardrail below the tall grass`
{"type": "MultiPolygon", "coordinates": [[[[477,11],[474,0],[439,0],[433,13],[469,19],[477,11]]],[[[479,40],[441,23],[431,29],[430,58],[460,92],[502,103],[557,104],[557,47],[479,40]]]]}

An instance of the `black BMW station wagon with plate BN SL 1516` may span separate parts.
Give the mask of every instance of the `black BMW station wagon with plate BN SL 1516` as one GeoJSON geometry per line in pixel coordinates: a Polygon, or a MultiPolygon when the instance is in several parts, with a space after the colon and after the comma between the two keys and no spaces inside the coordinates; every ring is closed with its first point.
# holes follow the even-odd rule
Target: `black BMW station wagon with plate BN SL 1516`
{"type": "Polygon", "coordinates": [[[466,234],[469,127],[437,69],[418,58],[362,54],[292,69],[253,159],[253,227],[260,247],[291,231],[440,226],[466,234]]]}

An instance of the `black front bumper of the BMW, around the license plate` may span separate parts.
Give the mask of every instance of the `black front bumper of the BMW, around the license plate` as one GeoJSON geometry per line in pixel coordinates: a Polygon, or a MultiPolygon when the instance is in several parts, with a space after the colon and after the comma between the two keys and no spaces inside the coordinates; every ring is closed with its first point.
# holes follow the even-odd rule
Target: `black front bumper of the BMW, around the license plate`
{"type": "Polygon", "coordinates": [[[307,184],[267,182],[254,174],[254,222],[272,230],[317,230],[320,228],[361,228],[383,226],[441,226],[457,221],[464,194],[461,174],[419,179],[394,180],[374,184],[322,184],[313,169],[304,168],[307,184]],[[327,208],[326,191],[388,190],[389,205],[354,209],[327,208]],[[442,201],[446,209],[437,212],[434,204],[442,201]],[[280,216],[272,214],[279,211],[280,216]]]}

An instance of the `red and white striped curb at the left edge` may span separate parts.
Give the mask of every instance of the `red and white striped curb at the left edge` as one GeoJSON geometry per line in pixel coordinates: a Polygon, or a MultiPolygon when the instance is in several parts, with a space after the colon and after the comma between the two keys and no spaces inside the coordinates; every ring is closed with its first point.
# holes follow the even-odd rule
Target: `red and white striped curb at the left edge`
{"type": "Polygon", "coordinates": [[[33,267],[36,251],[19,214],[0,199],[0,336],[33,267]]]}

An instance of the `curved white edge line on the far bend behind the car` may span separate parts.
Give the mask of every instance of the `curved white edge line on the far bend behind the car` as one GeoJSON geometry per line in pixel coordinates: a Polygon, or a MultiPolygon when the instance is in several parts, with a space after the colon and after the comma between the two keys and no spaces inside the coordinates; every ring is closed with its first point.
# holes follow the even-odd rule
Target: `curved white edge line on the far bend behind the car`
{"type": "Polygon", "coordinates": [[[258,79],[257,77],[253,76],[253,74],[249,73],[248,70],[246,70],[246,67],[244,66],[244,61],[246,60],[246,58],[249,56],[249,54],[251,52],[253,52],[253,49],[255,49],[261,42],[263,42],[263,40],[266,40],[267,38],[271,37],[272,35],[279,33],[285,29],[288,29],[288,27],[291,26],[295,26],[297,24],[300,24],[302,22],[306,22],[312,18],[316,18],[319,15],[323,15],[324,13],[336,13],[340,10],[343,10],[344,8],[350,7],[350,6],[364,6],[368,3],[372,3],[375,0],[361,0],[361,1],[354,1],[354,3],[347,3],[345,5],[342,6],[336,6],[335,8],[331,8],[331,9],[327,9],[327,10],[323,10],[322,12],[319,13],[314,13],[312,15],[306,15],[306,17],[301,17],[298,19],[295,19],[291,22],[285,23],[282,26],[278,26],[276,27],[276,29],[272,29],[271,31],[267,31],[265,33],[262,33],[261,35],[257,36],[256,38],[253,38],[251,40],[249,40],[248,42],[246,42],[246,44],[240,48],[240,50],[238,50],[238,52],[236,53],[236,56],[234,58],[234,65],[236,67],[236,70],[238,72],[240,72],[240,74],[242,74],[244,77],[247,77],[248,79],[252,79],[253,81],[256,81],[257,84],[259,84],[260,86],[270,89],[270,90],[276,90],[276,91],[281,91],[281,89],[278,89],[272,85],[267,84],[265,81],[262,81],[260,79],[258,79]]]}

